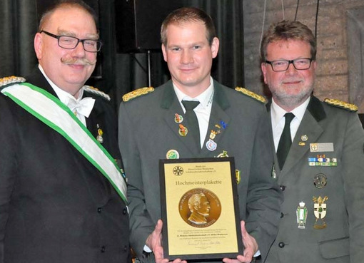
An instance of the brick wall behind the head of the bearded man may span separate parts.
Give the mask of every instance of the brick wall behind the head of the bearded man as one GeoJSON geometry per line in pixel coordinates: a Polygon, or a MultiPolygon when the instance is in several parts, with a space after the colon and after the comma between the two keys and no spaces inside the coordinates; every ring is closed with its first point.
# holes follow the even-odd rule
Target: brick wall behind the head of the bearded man
{"type": "MultiPolygon", "coordinates": [[[[293,20],[298,0],[266,0],[264,29],[272,22],[293,20]],[[282,6],[282,2],[284,7],[282,6]],[[284,10],[284,12],[283,12],[284,10]]],[[[315,33],[317,0],[300,0],[296,20],[303,22],[315,33]]],[[[363,8],[364,0],[321,0],[318,10],[318,53],[314,94],[323,98],[338,98],[355,103],[364,113],[363,85],[350,86],[347,20],[348,10],[363,8]],[[355,96],[350,96],[355,94],[355,96]],[[362,103],[363,102],[363,103],[362,103]]],[[[259,45],[263,26],[264,0],[243,0],[245,86],[257,93],[265,93],[261,74],[259,45]]],[[[364,22],[364,21],[363,21],[364,22]]],[[[363,45],[361,45],[363,46],[363,45]]],[[[361,74],[363,75],[363,74],[361,74]]],[[[358,77],[358,76],[357,76],[358,77]]]]}

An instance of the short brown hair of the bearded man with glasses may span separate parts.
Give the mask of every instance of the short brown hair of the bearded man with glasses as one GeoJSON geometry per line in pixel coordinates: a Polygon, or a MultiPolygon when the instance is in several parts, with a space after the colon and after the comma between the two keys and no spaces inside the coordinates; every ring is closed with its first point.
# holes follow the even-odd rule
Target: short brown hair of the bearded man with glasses
{"type": "Polygon", "coordinates": [[[306,41],[310,44],[311,58],[315,60],[317,43],[316,38],[313,36],[312,31],[302,24],[300,21],[283,20],[278,23],[272,24],[269,29],[264,33],[261,43],[261,60],[266,61],[267,46],[269,43],[275,41],[288,41],[288,40],[300,40],[306,41]]]}

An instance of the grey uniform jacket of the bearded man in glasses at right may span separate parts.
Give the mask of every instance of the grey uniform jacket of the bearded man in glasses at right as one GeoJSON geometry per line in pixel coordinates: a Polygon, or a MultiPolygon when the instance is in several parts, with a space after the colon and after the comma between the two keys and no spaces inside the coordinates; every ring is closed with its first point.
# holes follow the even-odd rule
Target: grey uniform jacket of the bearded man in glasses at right
{"type": "Polygon", "coordinates": [[[283,170],[275,165],[284,202],[267,262],[364,261],[363,146],[364,131],[356,113],[311,97],[283,170]],[[326,150],[323,143],[329,143],[326,150]],[[318,155],[331,162],[336,158],[337,166],[310,166],[308,158],[318,155]],[[321,213],[317,222],[313,197],[327,197],[321,205],[325,217],[321,213]],[[298,228],[299,202],[307,207],[305,229],[298,228]],[[317,229],[323,222],[326,227],[317,229]]]}

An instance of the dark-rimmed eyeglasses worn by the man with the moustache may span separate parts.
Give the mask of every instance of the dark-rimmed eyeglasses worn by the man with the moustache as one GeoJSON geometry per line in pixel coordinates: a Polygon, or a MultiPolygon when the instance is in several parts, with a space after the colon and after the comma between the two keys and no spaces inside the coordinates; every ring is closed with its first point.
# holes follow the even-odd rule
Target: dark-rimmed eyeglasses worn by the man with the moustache
{"type": "Polygon", "coordinates": [[[81,42],[85,51],[98,52],[102,45],[102,42],[97,39],[80,39],[74,36],[57,36],[44,30],[41,30],[39,33],[46,33],[48,36],[57,38],[58,45],[65,49],[74,49],[81,42]]]}

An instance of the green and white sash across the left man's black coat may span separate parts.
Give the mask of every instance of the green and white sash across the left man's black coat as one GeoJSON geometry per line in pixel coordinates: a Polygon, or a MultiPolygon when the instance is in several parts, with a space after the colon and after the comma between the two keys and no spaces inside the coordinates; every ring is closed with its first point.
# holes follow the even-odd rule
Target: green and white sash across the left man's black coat
{"type": "Polygon", "coordinates": [[[30,83],[8,86],[1,93],[64,136],[108,179],[124,202],[127,202],[126,180],[115,160],[64,103],[30,83]]]}

